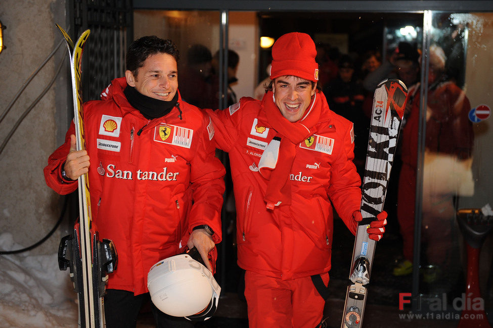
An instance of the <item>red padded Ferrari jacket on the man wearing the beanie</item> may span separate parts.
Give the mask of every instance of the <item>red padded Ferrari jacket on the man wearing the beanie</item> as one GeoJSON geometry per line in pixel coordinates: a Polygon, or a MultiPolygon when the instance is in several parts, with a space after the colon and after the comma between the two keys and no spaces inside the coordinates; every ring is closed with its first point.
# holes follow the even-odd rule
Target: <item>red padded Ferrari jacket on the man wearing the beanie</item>
{"type": "MultiPolygon", "coordinates": [[[[267,180],[258,163],[276,131],[261,101],[244,97],[224,111],[210,111],[214,141],[229,152],[237,207],[238,264],[283,280],[329,271],[333,233],[332,204],[355,233],[352,213],[360,209],[361,180],[352,162],[352,123],[329,110],[325,96],[316,133],[296,146],[289,175],[291,204],[266,208],[267,180]]],[[[270,100],[272,101],[272,100],[270,100]]]]}

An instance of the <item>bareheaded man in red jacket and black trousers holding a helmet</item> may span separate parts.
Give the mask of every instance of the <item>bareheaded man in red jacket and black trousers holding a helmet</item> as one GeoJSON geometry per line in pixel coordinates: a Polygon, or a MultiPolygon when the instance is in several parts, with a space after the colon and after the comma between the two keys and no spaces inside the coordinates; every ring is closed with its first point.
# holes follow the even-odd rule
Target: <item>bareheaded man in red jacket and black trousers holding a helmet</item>
{"type": "MultiPolygon", "coordinates": [[[[135,327],[152,265],[188,245],[212,271],[221,240],[225,170],[214,156],[210,118],[178,92],[178,57],[170,40],[133,41],[125,77],[113,80],[102,100],[84,103],[87,150],[75,150],[72,123],[44,168],[60,194],[89,176],[93,222],[118,252],[105,295],[107,327],[135,327]]],[[[192,326],[153,312],[159,327],[192,326]]]]}

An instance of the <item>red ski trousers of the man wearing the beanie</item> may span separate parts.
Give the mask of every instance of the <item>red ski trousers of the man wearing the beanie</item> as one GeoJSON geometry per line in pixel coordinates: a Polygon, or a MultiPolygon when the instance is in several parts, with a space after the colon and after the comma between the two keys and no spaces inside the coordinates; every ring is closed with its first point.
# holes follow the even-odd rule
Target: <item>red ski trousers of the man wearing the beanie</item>
{"type": "MultiPolygon", "coordinates": [[[[321,276],[327,285],[328,272],[321,276]]],[[[322,320],[325,301],[310,277],[283,281],[246,271],[245,297],[250,328],[313,328],[322,320]]]]}

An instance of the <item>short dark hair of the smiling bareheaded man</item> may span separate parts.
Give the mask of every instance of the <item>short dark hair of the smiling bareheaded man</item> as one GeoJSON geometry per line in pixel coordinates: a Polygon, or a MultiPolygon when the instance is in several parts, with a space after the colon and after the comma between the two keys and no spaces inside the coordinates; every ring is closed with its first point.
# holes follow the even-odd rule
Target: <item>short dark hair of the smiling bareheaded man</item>
{"type": "Polygon", "coordinates": [[[126,54],[126,69],[137,77],[137,70],[144,66],[146,59],[156,53],[167,53],[180,59],[180,51],[171,40],[164,40],[155,35],[143,36],[130,43],[126,54]]]}

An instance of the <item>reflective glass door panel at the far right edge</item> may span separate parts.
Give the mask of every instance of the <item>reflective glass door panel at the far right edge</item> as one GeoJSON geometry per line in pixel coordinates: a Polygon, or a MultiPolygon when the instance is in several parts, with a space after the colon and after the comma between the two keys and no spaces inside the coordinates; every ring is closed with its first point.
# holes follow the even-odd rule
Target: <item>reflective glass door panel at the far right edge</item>
{"type": "Polygon", "coordinates": [[[426,16],[424,87],[411,99],[412,111],[421,102],[421,112],[410,115],[403,134],[416,142],[422,168],[414,235],[420,264],[417,307],[434,315],[448,313],[460,326],[482,326],[493,296],[493,87],[487,82],[493,77],[488,50],[493,15],[426,16]]]}

